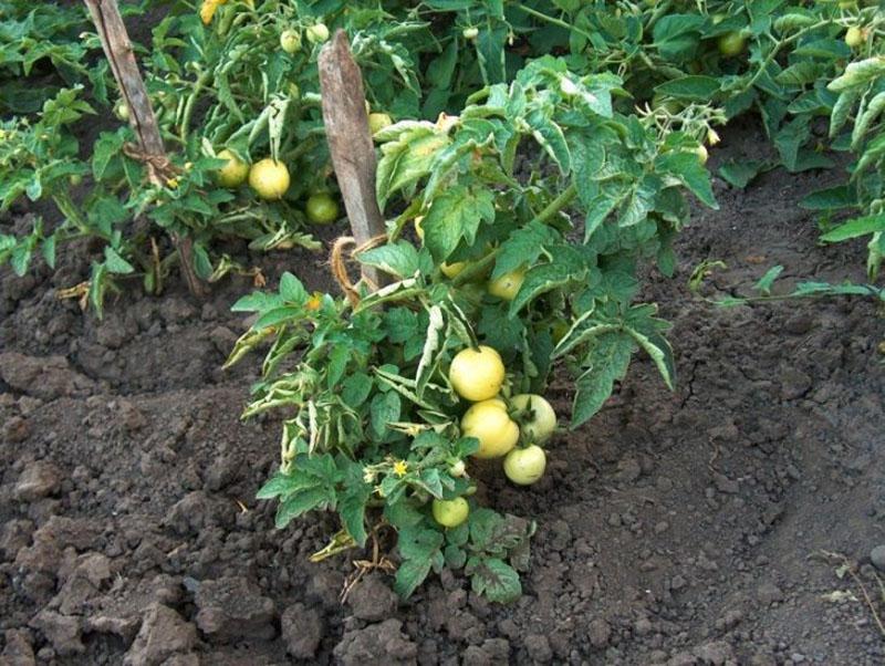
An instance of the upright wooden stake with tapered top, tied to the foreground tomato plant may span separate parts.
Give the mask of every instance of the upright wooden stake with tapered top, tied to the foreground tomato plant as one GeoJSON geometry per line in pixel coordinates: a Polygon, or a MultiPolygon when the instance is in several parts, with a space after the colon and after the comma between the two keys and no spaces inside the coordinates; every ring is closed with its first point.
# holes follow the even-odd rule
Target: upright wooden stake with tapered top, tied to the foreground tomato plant
{"type": "MultiPolygon", "coordinates": [[[[323,46],[319,64],[332,166],[360,247],[386,231],[375,197],[375,145],[368,131],[363,76],[343,30],[323,46]]],[[[375,268],[364,266],[362,271],[371,283],[384,283],[384,274],[375,268]]]]}

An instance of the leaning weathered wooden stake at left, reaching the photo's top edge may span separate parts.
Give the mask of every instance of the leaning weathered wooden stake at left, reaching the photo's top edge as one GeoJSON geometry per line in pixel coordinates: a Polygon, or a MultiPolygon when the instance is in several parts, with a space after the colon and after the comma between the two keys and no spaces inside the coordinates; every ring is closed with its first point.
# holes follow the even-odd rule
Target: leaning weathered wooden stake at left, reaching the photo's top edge
{"type": "MultiPolygon", "coordinates": [[[[129,108],[129,124],[138,137],[140,150],[138,157],[145,163],[152,181],[162,185],[166,178],[174,175],[174,169],[166,156],[157,118],[135,60],[129,34],[119,15],[117,0],[84,0],[84,2],[98,31],[102,48],[119,86],[119,94],[129,108]]],[[[178,250],[181,273],[190,292],[204,294],[204,285],[194,271],[194,246],[190,238],[173,235],[173,242],[178,250]]]]}

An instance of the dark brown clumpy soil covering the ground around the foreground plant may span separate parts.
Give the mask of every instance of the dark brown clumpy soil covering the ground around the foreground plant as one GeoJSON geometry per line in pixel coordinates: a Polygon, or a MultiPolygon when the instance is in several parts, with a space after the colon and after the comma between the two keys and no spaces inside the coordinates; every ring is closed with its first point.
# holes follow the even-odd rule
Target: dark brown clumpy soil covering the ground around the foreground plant
{"type": "MultiPolygon", "coordinates": [[[[731,143],[719,153],[759,139],[731,143]]],[[[84,278],[87,248],[54,275],[2,273],[0,664],[885,663],[861,589],[885,612],[871,563],[885,544],[874,305],[723,310],[686,288],[705,259],[729,266],[709,294],[745,292],[775,263],[862,279],[863,244],[816,247],[795,206],[833,177],[719,183],[722,208],[697,211],[678,275],[647,289],[675,323],[676,393],[637,358],[603,412],[552,444],[541,483],[488,479],[489,501],[540,525],[508,607],[450,575],[398,605],[371,575],[341,605],[360,554],[306,562],[335,521],[273,530],[273,507],[253,498],[278,426],[239,420],[259,361],[219,368],[246,327],[229,305],[248,282],[206,302],[132,289],[98,322],[55,298],[84,278]]],[[[321,259],[264,268],[327,288],[321,259]]],[[[568,388],[552,393],[566,413],[568,388]]]]}

